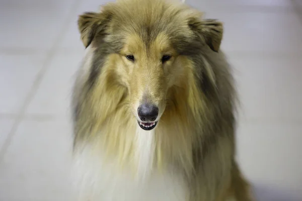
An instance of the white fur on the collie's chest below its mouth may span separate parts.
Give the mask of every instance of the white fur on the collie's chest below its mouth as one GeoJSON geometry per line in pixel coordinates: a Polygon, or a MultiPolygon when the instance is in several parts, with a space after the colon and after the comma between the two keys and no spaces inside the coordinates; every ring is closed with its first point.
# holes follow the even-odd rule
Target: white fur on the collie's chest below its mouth
{"type": "Polygon", "coordinates": [[[135,159],[137,174],[129,168],[118,169],[115,159],[97,157],[87,146],[75,153],[73,178],[77,181],[79,201],[185,201],[184,180],[171,170],[153,169],[154,133],[137,130],[135,159]]]}

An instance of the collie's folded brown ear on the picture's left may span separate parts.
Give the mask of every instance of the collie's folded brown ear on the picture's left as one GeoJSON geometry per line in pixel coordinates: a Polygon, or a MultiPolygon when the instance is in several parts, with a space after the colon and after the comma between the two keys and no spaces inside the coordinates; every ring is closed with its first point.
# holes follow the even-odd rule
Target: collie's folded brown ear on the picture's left
{"type": "Polygon", "coordinates": [[[78,28],[81,40],[87,48],[98,32],[106,28],[109,16],[105,13],[86,12],[79,16],[78,28]]]}

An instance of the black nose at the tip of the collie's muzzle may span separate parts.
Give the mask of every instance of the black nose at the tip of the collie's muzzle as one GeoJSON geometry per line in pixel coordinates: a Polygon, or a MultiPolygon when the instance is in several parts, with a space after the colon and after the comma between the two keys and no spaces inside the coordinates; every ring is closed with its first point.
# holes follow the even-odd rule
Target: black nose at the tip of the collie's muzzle
{"type": "Polygon", "coordinates": [[[138,117],[143,122],[153,122],[159,115],[159,108],[155,105],[143,104],[137,109],[138,117]]]}

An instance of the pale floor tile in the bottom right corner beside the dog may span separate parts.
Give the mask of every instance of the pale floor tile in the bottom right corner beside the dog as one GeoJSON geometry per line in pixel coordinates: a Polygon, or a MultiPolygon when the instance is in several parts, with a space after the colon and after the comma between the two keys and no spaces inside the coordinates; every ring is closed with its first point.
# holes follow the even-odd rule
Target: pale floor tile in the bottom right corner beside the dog
{"type": "Polygon", "coordinates": [[[259,200],[302,200],[301,122],[241,122],[237,138],[238,159],[244,173],[256,188],[268,188],[265,196],[273,193],[270,197],[283,197],[259,200]]]}

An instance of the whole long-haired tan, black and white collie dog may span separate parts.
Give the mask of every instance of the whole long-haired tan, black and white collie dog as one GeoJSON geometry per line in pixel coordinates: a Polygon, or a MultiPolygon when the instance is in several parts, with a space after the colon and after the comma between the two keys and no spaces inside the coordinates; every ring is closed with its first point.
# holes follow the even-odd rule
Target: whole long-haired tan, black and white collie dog
{"type": "Polygon", "coordinates": [[[78,20],[73,90],[81,201],[248,201],[222,24],[166,0],[118,0],[78,20]]]}

